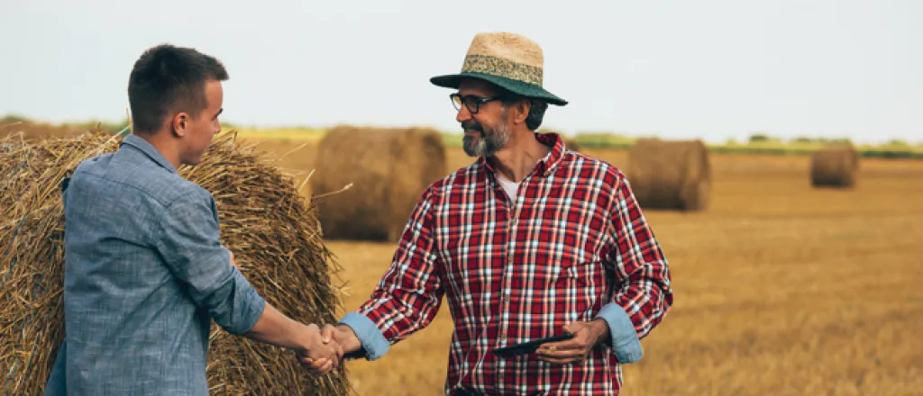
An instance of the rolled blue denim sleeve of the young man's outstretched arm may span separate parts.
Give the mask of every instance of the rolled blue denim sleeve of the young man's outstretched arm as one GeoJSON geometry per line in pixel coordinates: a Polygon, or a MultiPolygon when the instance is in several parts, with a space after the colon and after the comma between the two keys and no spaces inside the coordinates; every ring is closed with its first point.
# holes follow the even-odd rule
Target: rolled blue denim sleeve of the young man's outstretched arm
{"type": "Polygon", "coordinates": [[[186,193],[161,217],[156,241],[167,267],[195,303],[226,332],[242,334],[257,323],[265,300],[231,265],[220,241],[218,210],[207,193],[186,193]]]}

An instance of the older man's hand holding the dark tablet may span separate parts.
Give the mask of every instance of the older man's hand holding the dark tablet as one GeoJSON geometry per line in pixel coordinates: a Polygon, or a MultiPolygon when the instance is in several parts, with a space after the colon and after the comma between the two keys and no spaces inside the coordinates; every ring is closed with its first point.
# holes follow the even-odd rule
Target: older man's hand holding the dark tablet
{"type": "Polygon", "coordinates": [[[590,355],[596,344],[609,336],[609,326],[605,320],[575,321],[564,326],[564,331],[574,338],[557,343],[542,344],[535,351],[538,358],[548,363],[576,363],[590,355]]]}

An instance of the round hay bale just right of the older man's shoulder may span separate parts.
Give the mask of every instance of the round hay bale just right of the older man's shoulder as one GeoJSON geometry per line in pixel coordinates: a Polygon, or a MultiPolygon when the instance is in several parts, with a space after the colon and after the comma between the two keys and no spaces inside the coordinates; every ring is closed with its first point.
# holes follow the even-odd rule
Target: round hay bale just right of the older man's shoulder
{"type": "Polygon", "coordinates": [[[712,167],[701,140],[639,139],[629,150],[626,177],[644,209],[699,211],[708,207],[712,167]]]}

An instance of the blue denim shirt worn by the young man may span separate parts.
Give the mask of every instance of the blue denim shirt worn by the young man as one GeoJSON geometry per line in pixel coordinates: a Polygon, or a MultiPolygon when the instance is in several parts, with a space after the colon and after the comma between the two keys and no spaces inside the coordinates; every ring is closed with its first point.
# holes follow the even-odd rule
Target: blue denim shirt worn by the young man
{"type": "Polygon", "coordinates": [[[208,395],[211,320],[241,334],[265,305],[230,264],[210,192],[128,135],[64,193],[66,339],[45,394],[208,395]]]}

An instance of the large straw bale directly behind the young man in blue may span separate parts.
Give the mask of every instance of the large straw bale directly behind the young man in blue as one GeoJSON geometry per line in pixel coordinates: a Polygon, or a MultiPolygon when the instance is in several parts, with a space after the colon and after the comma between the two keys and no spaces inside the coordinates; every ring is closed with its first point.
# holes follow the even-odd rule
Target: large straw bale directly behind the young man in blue
{"type": "MultiPolygon", "coordinates": [[[[0,157],[0,394],[41,395],[61,344],[64,213],[59,182],[80,160],[117,149],[119,137],[90,132],[13,147],[0,157]]],[[[0,141],[0,145],[5,142],[0,141]]],[[[180,173],[214,194],[222,242],[260,294],[294,320],[338,319],[339,270],[320,237],[316,208],[291,179],[234,134],[216,137],[196,168],[180,173]]],[[[212,326],[207,376],[211,394],[342,395],[343,368],[315,379],[291,352],[212,326]]]]}

